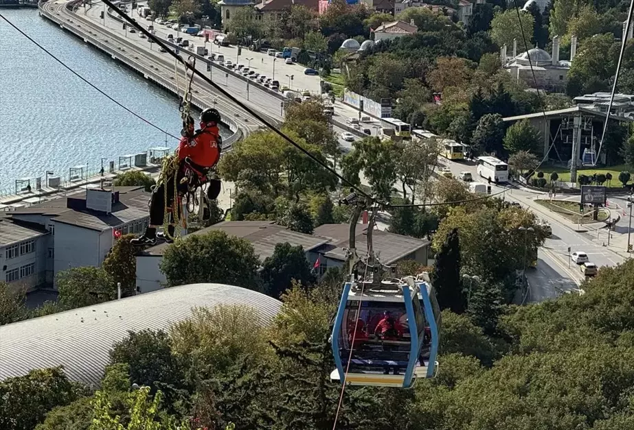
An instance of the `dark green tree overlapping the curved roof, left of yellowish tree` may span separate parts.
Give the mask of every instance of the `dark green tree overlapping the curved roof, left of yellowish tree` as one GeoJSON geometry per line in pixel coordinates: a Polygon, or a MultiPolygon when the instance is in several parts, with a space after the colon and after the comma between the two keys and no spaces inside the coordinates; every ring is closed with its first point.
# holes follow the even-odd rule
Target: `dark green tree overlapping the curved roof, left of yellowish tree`
{"type": "Polygon", "coordinates": [[[183,372],[172,355],[172,342],[162,330],[129,331],[109,353],[111,364],[129,366],[130,381],[155,390],[157,382],[181,385],[183,372]]]}

